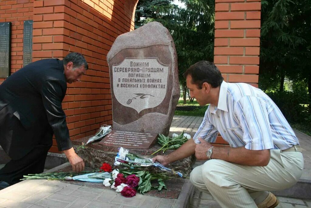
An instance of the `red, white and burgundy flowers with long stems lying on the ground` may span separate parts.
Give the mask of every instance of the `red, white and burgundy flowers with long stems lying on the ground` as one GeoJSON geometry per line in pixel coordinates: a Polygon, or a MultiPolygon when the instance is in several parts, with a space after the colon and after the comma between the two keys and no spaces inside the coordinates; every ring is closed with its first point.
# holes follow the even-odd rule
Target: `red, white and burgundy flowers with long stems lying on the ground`
{"type": "Polygon", "coordinates": [[[97,171],[83,171],[81,173],[75,172],[61,172],[61,173],[40,173],[29,174],[24,176],[21,180],[30,179],[47,179],[47,180],[75,180],[85,182],[102,182],[105,187],[111,186],[116,192],[121,192],[122,196],[132,197],[136,192],[144,194],[151,189],[161,191],[166,189],[163,180],[170,179],[166,173],[150,173],[145,170],[138,169],[114,169],[111,165],[103,163],[97,171]],[[84,173],[81,175],[81,173],[84,173]],[[157,180],[158,185],[152,186],[151,181],[157,180]]]}

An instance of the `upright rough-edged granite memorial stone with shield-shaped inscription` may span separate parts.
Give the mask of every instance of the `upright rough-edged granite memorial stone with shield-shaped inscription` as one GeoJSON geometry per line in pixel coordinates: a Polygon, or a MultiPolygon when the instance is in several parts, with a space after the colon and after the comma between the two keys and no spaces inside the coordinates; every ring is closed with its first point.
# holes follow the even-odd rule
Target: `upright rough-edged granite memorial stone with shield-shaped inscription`
{"type": "Polygon", "coordinates": [[[119,35],[107,55],[113,129],[168,135],[180,96],[177,54],[159,22],[119,35]]]}

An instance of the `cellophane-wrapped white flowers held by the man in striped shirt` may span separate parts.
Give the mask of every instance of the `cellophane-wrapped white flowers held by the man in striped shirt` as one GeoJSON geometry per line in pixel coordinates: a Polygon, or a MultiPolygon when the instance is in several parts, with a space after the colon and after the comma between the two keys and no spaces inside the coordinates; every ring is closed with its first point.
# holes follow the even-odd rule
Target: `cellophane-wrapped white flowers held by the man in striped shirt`
{"type": "Polygon", "coordinates": [[[169,173],[177,174],[179,177],[183,177],[182,173],[174,171],[170,168],[166,168],[161,163],[153,162],[151,158],[144,158],[141,155],[130,153],[128,149],[124,149],[123,147],[119,148],[119,152],[115,157],[114,165],[122,165],[123,164],[131,164],[135,167],[157,167],[162,171],[166,171],[169,173]]]}

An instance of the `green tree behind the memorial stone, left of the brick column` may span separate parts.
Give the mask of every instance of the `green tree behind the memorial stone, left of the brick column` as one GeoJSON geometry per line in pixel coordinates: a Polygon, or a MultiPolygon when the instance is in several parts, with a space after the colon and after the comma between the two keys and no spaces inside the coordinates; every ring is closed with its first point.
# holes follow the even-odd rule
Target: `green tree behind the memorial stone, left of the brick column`
{"type": "Polygon", "coordinates": [[[176,46],[179,82],[186,103],[187,86],[183,73],[197,61],[213,60],[215,1],[180,0],[180,2],[185,4],[185,8],[173,3],[151,5],[148,8],[156,16],[146,16],[143,24],[158,21],[170,31],[176,46]]]}

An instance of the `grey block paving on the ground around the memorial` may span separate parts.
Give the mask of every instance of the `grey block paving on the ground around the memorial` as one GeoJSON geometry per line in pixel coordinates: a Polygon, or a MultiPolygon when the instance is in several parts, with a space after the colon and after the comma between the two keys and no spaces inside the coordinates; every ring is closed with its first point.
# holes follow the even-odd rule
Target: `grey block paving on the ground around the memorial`
{"type": "MultiPolygon", "coordinates": [[[[182,132],[194,135],[202,117],[174,116],[170,128],[173,132],[182,132]]],[[[303,148],[305,169],[301,179],[311,180],[311,139],[309,136],[295,131],[303,148]]],[[[193,167],[202,164],[195,161],[193,167]]],[[[0,164],[0,168],[2,168],[0,164]]],[[[189,194],[189,193],[181,193],[189,194]]],[[[278,207],[311,207],[311,201],[294,198],[278,197],[281,201],[278,207]]],[[[133,198],[125,198],[110,189],[97,189],[60,181],[29,180],[0,191],[0,207],[7,208],[46,208],[46,207],[148,207],[169,208],[187,207],[179,199],[164,199],[137,194],[133,198]]],[[[213,197],[195,189],[191,200],[191,208],[195,207],[220,207],[213,197]]]]}

